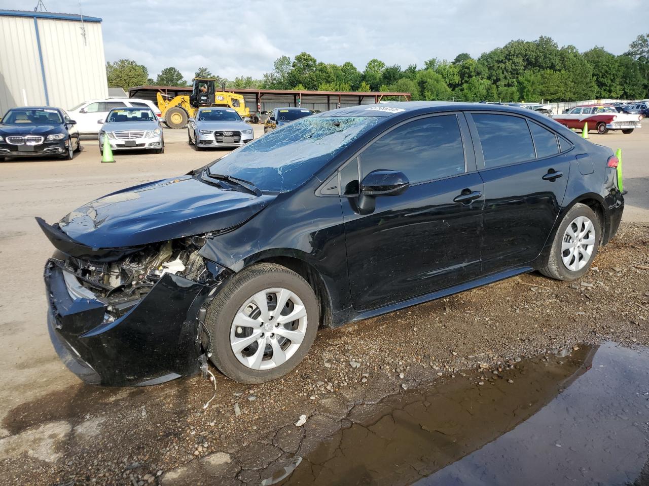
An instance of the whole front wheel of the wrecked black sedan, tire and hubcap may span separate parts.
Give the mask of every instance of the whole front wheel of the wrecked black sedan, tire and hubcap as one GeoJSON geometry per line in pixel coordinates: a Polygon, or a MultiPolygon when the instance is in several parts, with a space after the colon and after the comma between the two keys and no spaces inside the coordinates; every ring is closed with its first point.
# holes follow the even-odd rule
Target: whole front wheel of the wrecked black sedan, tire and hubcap
{"type": "Polygon", "coordinates": [[[237,382],[275,380],[306,356],[319,321],[315,292],[300,275],[255,264],[234,275],[210,303],[210,359],[237,382]]]}

